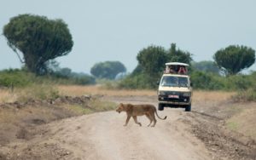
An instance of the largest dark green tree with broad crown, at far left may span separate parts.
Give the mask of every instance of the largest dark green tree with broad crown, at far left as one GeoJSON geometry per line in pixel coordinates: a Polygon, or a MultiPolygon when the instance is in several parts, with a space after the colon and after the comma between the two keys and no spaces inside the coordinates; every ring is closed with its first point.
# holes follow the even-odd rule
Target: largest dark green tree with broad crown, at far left
{"type": "Polygon", "coordinates": [[[73,48],[67,24],[63,20],[49,20],[44,16],[15,16],[3,27],[3,35],[26,68],[37,74],[47,71],[48,60],[67,55],[73,48]]]}

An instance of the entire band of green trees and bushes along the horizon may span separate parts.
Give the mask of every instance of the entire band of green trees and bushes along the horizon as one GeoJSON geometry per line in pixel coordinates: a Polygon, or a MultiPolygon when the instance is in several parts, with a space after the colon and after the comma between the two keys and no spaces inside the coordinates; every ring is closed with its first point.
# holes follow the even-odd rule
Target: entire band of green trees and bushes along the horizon
{"type": "Polygon", "coordinates": [[[194,89],[238,91],[237,99],[256,97],[256,72],[241,72],[255,62],[255,50],[247,46],[230,45],[213,54],[214,61],[195,62],[189,51],[178,49],[175,43],[169,49],[150,45],[138,52],[137,67],[130,74],[125,73],[121,62],[105,61],[92,66],[90,76],[61,68],[55,61],[73,48],[72,35],[63,20],[20,14],[3,26],[3,36],[24,63],[22,69],[0,71],[0,86],[4,88],[104,83],[108,89],[156,89],[165,63],[178,61],[189,64],[194,89]]]}

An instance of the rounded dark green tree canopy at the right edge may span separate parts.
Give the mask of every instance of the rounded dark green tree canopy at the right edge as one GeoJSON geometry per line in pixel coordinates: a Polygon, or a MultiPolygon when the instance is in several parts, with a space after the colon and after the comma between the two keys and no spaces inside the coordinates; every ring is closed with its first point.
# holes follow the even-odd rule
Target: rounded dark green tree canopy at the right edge
{"type": "Polygon", "coordinates": [[[213,55],[213,59],[226,74],[233,75],[253,65],[255,50],[246,46],[230,45],[225,49],[219,49],[213,55]]]}

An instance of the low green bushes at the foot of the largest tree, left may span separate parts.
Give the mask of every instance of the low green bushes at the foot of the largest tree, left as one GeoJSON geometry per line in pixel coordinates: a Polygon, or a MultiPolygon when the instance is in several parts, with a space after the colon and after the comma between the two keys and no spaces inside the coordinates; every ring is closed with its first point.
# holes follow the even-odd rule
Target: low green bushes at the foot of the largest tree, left
{"type": "Polygon", "coordinates": [[[34,84],[95,84],[96,80],[86,74],[66,71],[55,71],[44,76],[20,69],[8,69],[0,71],[0,86],[2,88],[20,88],[34,84]]]}

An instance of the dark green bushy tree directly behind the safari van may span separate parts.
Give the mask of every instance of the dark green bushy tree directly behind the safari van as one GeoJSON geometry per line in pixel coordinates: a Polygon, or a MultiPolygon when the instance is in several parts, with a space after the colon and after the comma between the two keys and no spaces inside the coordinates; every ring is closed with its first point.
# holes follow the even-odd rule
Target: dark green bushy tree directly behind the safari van
{"type": "Polygon", "coordinates": [[[191,54],[177,49],[175,43],[171,44],[170,49],[150,45],[137,54],[138,65],[131,77],[139,77],[137,81],[143,82],[137,82],[138,84],[144,83],[143,86],[150,86],[153,89],[166,67],[166,62],[177,61],[190,64],[191,60],[191,54]]]}

